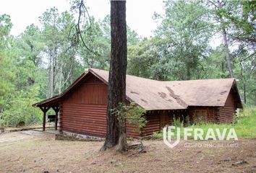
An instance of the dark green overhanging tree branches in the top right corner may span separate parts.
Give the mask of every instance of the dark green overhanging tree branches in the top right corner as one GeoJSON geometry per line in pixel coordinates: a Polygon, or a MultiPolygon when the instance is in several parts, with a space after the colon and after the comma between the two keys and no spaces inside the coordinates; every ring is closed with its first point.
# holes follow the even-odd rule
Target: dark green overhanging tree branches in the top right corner
{"type": "Polygon", "coordinates": [[[229,30],[232,40],[253,49],[255,35],[255,1],[226,1],[222,8],[215,10],[216,16],[223,18],[223,27],[229,30]]]}

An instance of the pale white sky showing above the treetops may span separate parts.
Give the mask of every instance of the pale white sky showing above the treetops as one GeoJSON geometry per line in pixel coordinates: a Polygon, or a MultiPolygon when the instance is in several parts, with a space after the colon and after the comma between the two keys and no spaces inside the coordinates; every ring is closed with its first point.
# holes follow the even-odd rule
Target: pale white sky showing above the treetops
{"type": "MultiPolygon", "coordinates": [[[[20,35],[27,25],[40,25],[40,17],[46,9],[56,7],[59,12],[69,11],[70,0],[0,0],[0,14],[9,14],[12,19],[12,35],[20,35]]],[[[90,16],[103,19],[110,13],[109,0],[85,0],[90,16]]],[[[152,31],[159,25],[152,19],[154,12],[163,14],[161,0],[127,0],[127,25],[142,37],[153,36],[152,31]]]]}

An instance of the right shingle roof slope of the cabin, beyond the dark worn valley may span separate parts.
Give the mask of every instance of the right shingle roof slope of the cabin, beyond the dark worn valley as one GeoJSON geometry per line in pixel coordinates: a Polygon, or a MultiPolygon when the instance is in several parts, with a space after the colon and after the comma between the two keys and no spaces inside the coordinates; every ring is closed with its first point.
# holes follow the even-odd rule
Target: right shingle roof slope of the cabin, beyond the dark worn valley
{"type": "Polygon", "coordinates": [[[224,106],[234,79],[164,81],[189,106],[224,106]]]}

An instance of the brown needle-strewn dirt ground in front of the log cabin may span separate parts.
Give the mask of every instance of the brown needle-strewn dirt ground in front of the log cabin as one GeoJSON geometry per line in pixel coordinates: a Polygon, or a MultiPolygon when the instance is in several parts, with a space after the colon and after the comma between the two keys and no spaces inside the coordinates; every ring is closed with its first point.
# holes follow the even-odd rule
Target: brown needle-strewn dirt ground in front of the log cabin
{"type": "MultiPolygon", "coordinates": [[[[133,141],[135,142],[135,141],[133,141]]],[[[145,153],[99,151],[103,142],[55,141],[36,131],[0,136],[0,172],[256,172],[256,139],[239,139],[237,147],[185,147],[234,141],[143,141],[145,153]],[[245,163],[233,165],[238,161],[245,163]]]]}

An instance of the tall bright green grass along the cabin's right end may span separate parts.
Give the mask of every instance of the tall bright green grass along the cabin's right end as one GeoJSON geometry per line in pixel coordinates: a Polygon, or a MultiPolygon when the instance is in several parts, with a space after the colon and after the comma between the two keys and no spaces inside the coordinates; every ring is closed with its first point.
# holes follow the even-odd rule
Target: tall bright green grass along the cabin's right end
{"type": "MultiPolygon", "coordinates": [[[[174,120],[176,122],[176,120],[174,120]]],[[[181,128],[181,138],[184,137],[184,125],[182,123],[174,123],[174,126],[181,128]]],[[[224,128],[227,128],[226,136],[229,133],[230,128],[236,130],[236,135],[238,138],[256,138],[256,107],[244,107],[244,110],[239,112],[235,118],[234,123],[232,124],[216,124],[216,123],[199,123],[194,125],[189,125],[186,128],[200,128],[203,130],[203,138],[205,138],[206,133],[209,128],[214,129],[216,134],[216,128],[222,133],[224,128]]],[[[194,136],[194,130],[192,131],[192,136],[194,136]]],[[[176,134],[176,130],[174,130],[176,134]]],[[[153,133],[154,138],[163,138],[163,133],[153,133]]]]}

